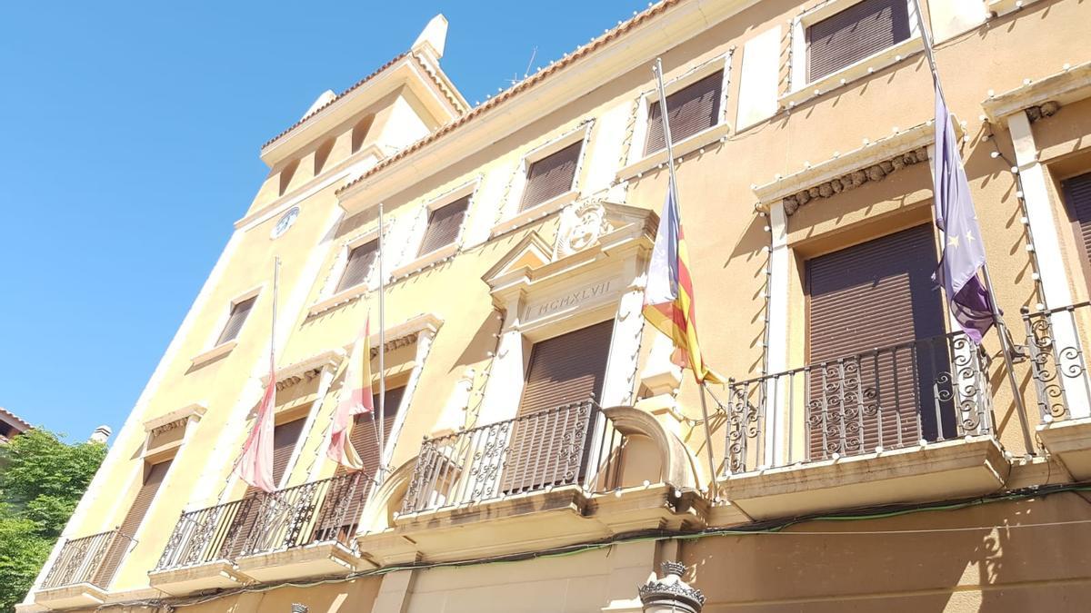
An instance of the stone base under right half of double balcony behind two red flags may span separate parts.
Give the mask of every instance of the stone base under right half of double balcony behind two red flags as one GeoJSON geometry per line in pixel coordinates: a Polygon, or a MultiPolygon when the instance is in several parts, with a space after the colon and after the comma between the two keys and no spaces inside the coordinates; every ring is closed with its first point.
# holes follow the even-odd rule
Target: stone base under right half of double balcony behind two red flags
{"type": "Polygon", "coordinates": [[[358,569],[359,556],[340,543],[323,542],[238,560],[239,570],[259,581],[338,575],[358,569]]]}

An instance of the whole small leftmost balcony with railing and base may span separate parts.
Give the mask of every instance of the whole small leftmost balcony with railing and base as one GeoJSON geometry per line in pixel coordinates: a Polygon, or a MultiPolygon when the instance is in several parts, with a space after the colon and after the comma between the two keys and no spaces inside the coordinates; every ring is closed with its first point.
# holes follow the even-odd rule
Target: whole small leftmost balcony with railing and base
{"type": "Polygon", "coordinates": [[[61,546],[35,602],[50,609],[101,604],[132,538],[120,530],[72,539],[61,546]]]}

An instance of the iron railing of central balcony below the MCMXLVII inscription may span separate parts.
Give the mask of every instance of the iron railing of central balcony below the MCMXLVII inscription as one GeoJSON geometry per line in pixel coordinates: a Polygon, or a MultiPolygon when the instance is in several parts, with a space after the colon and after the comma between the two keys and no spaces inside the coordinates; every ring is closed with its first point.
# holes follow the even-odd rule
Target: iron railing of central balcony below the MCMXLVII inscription
{"type": "Polygon", "coordinates": [[[403,514],[580,485],[613,489],[624,435],[592,400],[423,442],[403,514]]]}

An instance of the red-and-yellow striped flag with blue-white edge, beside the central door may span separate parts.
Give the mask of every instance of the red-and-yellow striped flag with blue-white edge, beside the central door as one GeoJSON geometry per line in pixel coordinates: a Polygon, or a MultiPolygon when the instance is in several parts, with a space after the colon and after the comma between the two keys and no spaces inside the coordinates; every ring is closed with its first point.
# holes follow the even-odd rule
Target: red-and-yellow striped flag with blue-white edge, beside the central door
{"type": "Polygon", "coordinates": [[[705,364],[697,344],[693,281],[673,182],[668,185],[667,202],[659,217],[656,245],[648,264],[644,316],[656,329],[671,338],[675,347],[673,361],[684,369],[692,369],[697,383],[723,383],[723,378],[705,364]]]}

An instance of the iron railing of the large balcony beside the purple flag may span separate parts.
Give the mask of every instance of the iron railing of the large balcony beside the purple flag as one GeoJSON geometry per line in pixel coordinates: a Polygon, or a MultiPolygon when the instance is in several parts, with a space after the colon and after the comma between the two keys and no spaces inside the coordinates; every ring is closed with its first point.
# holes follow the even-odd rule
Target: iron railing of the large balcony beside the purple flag
{"type": "Polygon", "coordinates": [[[731,381],[728,388],[728,473],[993,429],[987,357],[962,333],[731,381]]]}

